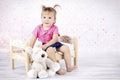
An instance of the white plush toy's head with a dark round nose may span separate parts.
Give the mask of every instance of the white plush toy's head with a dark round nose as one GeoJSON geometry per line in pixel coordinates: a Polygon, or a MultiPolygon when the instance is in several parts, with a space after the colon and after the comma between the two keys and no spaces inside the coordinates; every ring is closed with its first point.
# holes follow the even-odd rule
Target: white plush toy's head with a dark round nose
{"type": "Polygon", "coordinates": [[[37,62],[44,62],[47,59],[47,53],[43,51],[41,48],[35,47],[33,48],[32,59],[37,62]]]}

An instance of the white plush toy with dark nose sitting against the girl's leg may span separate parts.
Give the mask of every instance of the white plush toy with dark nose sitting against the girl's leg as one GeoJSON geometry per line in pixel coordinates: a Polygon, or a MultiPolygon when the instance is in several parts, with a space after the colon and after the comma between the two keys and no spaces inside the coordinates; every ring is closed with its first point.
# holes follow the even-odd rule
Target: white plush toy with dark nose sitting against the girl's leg
{"type": "Polygon", "coordinates": [[[27,73],[29,78],[51,77],[60,69],[60,65],[47,58],[47,53],[42,49],[38,47],[33,49],[28,47],[26,51],[30,53],[31,59],[33,60],[31,70],[27,73]]]}

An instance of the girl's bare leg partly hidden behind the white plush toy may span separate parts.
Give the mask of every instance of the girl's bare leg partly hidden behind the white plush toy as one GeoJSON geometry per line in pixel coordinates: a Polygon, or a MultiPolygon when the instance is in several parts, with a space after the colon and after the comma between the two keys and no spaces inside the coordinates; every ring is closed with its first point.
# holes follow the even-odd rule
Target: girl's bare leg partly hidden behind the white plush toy
{"type": "MultiPolygon", "coordinates": [[[[55,49],[53,47],[49,47],[46,52],[48,53],[48,58],[56,62],[55,49]]],[[[65,73],[66,73],[66,70],[64,69],[60,69],[57,71],[57,74],[60,74],[60,75],[64,75],[65,73]]]]}

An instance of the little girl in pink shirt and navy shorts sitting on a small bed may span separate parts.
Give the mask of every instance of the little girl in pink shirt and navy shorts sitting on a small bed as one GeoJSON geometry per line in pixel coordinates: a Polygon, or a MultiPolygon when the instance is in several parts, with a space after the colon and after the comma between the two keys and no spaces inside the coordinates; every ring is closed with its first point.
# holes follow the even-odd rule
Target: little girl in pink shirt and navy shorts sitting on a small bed
{"type": "MultiPolygon", "coordinates": [[[[55,25],[56,22],[56,10],[54,7],[42,7],[41,21],[42,24],[38,25],[33,30],[33,36],[30,39],[30,46],[33,47],[36,40],[42,42],[42,49],[48,53],[48,57],[56,62],[55,49],[62,52],[66,63],[67,72],[71,72],[75,67],[71,66],[71,55],[69,47],[58,42],[58,36],[60,36],[58,27],[55,25]]],[[[58,74],[63,75],[66,70],[60,69],[58,74]]]]}

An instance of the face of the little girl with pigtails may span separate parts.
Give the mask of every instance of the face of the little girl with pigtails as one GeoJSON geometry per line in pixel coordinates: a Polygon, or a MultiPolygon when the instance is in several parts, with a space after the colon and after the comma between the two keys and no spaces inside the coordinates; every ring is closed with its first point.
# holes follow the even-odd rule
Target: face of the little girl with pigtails
{"type": "Polygon", "coordinates": [[[55,23],[54,12],[43,12],[41,16],[43,27],[51,27],[55,23]]]}

